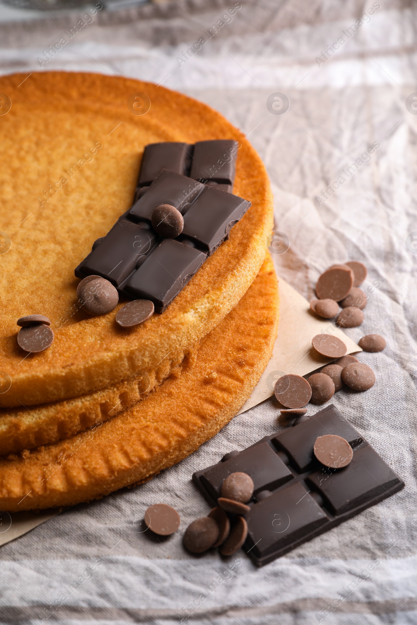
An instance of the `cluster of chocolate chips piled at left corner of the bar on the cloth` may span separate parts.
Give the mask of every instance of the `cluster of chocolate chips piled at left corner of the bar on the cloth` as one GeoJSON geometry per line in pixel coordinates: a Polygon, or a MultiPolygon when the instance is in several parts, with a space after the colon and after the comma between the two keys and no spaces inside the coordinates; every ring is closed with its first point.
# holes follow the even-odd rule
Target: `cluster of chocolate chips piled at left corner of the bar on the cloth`
{"type": "Polygon", "coordinates": [[[191,553],[220,547],[222,556],[238,551],[248,536],[248,524],[242,515],[251,509],[246,502],[251,499],[253,488],[253,480],[247,473],[229,474],[221,485],[218,507],[189,524],[183,538],[184,547],[191,553]],[[226,512],[232,516],[229,518],[226,512]]]}

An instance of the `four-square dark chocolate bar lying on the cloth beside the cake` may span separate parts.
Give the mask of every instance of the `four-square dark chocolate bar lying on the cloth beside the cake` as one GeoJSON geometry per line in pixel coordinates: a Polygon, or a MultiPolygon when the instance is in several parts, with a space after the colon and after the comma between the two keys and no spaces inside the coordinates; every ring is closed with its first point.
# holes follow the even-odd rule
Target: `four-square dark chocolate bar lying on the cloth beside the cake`
{"type": "Polygon", "coordinates": [[[248,537],[243,548],[258,564],[268,564],[299,544],[336,527],[390,497],[404,482],[333,405],[248,449],[229,452],[223,461],[193,475],[216,505],[221,483],[242,471],[254,482],[245,515],[248,537]],[[329,469],[314,456],[318,436],[336,434],[353,448],[342,469],[329,469]]]}

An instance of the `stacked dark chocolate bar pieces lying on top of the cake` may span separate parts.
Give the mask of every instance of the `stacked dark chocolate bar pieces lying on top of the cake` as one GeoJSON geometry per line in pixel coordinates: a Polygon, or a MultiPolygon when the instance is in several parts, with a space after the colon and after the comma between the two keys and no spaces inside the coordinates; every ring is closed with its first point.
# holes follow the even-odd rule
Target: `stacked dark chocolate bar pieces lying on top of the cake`
{"type": "Polygon", "coordinates": [[[231,140],[201,141],[195,149],[186,143],[146,146],[134,205],[94,242],[75,275],[102,276],[129,299],[150,299],[163,312],[251,206],[225,192],[232,189],[237,149],[231,140]],[[207,186],[188,176],[193,153],[194,176],[209,178],[207,186]],[[177,240],[161,239],[151,227],[159,204],[183,214],[177,240]]]}

